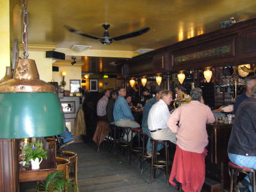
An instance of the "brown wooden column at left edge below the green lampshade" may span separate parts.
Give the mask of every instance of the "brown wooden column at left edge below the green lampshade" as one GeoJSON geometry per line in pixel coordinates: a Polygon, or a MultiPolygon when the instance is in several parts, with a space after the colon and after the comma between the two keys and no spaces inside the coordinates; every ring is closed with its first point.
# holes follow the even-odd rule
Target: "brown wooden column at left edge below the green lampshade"
{"type": "Polygon", "coordinates": [[[0,139],[0,192],[17,192],[17,140],[0,139]]]}

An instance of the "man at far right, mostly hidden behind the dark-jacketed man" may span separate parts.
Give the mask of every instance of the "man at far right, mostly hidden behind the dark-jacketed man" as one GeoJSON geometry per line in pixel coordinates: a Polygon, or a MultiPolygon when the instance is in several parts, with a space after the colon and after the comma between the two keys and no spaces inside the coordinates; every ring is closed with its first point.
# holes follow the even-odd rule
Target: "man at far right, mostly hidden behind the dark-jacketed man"
{"type": "Polygon", "coordinates": [[[249,99],[252,93],[252,88],[256,85],[256,76],[245,78],[246,91],[235,99],[233,114],[237,112],[238,106],[246,99],[249,99]]]}

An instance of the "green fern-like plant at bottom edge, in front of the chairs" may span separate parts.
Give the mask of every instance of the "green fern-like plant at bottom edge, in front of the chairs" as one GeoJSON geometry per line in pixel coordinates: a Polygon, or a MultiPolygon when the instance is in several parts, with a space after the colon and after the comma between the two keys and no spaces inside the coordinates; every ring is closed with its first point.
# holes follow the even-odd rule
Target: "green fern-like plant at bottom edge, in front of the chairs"
{"type": "Polygon", "coordinates": [[[63,171],[55,171],[49,174],[45,182],[37,185],[37,192],[63,192],[76,190],[76,184],[64,178],[63,171]]]}

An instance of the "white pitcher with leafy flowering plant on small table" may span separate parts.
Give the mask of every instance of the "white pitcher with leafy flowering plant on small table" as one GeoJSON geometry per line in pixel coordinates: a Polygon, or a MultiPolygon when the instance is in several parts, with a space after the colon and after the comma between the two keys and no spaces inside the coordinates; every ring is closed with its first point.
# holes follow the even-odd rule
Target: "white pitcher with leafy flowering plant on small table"
{"type": "Polygon", "coordinates": [[[42,141],[28,142],[23,148],[25,161],[31,161],[32,169],[39,169],[42,159],[47,159],[47,151],[43,149],[42,141]]]}

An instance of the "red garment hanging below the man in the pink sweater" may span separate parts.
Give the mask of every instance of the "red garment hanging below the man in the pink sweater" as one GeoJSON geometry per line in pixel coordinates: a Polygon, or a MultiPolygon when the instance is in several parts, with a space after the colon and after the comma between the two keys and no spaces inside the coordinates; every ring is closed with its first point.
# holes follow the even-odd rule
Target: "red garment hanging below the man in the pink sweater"
{"type": "Polygon", "coordinates": [[[176,145],[176,152],[171,168],[169,182],[177,187],[176,179],[181,183],[185,192],[200,191],[205,179],[205,156],[207,150],[199,154],[197,152],[184,151],[176,145]]]}

